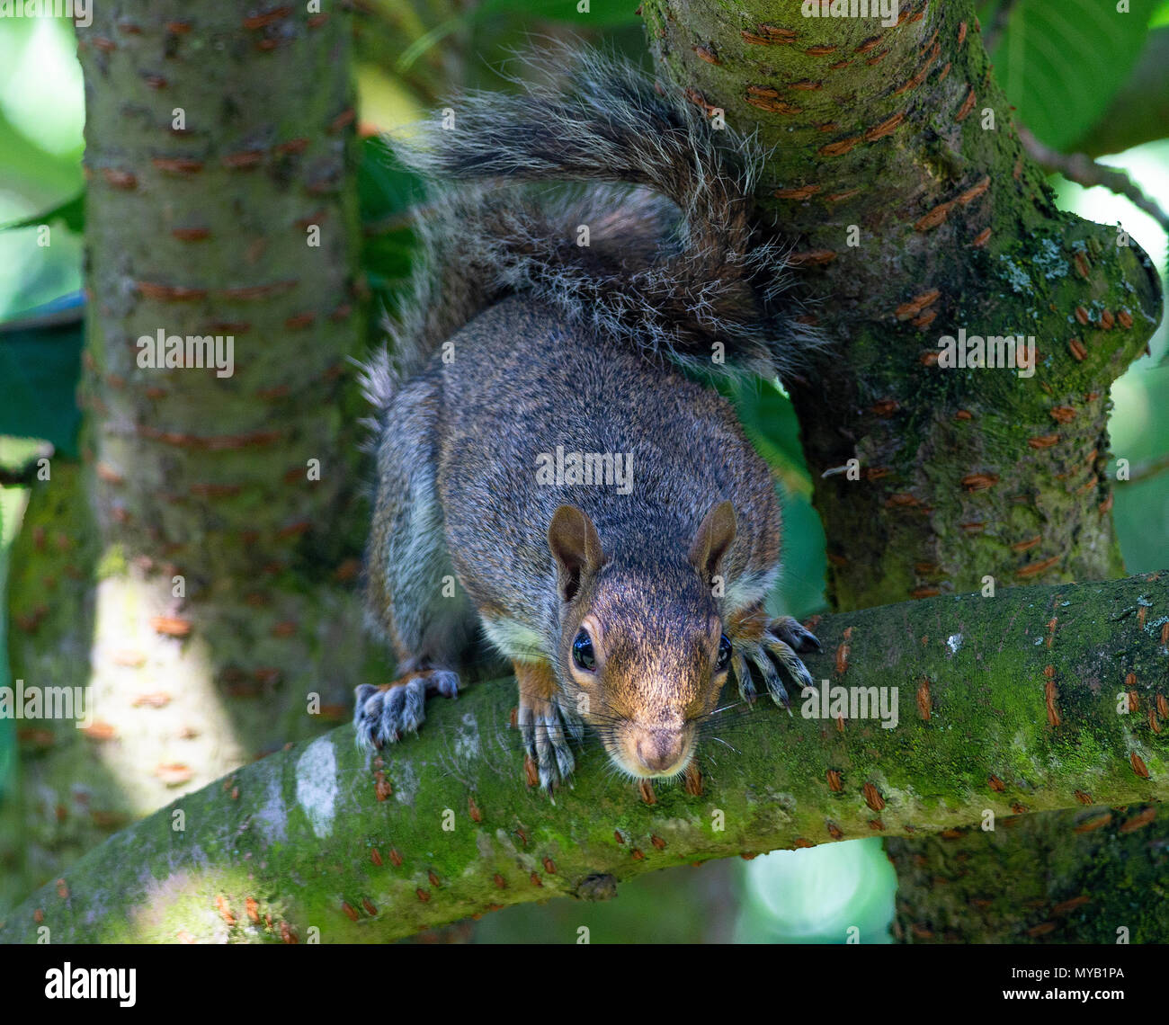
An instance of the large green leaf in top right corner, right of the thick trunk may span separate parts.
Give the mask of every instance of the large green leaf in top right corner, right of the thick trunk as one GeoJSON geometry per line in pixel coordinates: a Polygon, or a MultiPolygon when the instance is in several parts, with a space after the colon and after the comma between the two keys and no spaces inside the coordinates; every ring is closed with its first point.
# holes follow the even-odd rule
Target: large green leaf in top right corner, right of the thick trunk
{"type": "Polygon", "coordinates": [[[991,55],[1016,118],[1040,141],[1071,146],[1108,108],[1144,46],[1157,0],[1022,0],[991,55]]]}

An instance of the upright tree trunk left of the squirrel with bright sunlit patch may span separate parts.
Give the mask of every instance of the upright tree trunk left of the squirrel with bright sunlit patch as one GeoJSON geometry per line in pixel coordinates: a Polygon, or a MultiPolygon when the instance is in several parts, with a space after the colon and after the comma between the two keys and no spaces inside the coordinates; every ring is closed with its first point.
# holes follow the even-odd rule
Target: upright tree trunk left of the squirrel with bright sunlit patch
{"type": "Polygon", "coordinates": [[[12,663],[96,718],[23,723],[0,903],[345,718],[366,669],[351,27],[323,7],[125,0],[77,30],[84,464],[33,493],[12,663]],[[159,332],[231,337],[234,373],[141,366],[159,332]]]}

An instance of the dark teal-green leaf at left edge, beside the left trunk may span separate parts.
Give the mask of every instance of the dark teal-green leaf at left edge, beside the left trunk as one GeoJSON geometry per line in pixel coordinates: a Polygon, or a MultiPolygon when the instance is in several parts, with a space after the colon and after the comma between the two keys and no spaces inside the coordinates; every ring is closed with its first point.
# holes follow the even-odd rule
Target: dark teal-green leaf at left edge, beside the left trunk
{"type": "Polygon", "coordinates": [[[83,303],[68,296],[0,326],[0,435],[44,438],[76,457],[83,303]]]}

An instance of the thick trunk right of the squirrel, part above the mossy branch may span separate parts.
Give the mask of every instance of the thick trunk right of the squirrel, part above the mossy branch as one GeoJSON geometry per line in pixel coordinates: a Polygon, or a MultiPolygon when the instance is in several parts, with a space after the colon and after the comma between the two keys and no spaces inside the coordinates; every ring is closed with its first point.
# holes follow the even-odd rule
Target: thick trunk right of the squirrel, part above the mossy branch
{"type": "Polygon", "coordinates": [[[1108,388],[1160,320],[1148,257],[1056,208],[967,0],[736,9],[643,6],[662,72],[775,147],[756,199],[832,340],[788,383],[833,605],[1120,575],[1108,388]],[[1035,375],[938,366],[960,328],[1033,335],[1035,375]]]}

